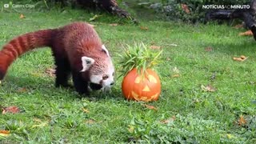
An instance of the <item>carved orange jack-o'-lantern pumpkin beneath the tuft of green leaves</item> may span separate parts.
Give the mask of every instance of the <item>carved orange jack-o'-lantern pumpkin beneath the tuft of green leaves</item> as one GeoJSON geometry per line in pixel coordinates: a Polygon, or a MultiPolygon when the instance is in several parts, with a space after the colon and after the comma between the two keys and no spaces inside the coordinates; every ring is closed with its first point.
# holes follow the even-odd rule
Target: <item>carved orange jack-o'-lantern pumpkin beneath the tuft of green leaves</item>
{"type": "Polygon", "coordinates": [[[147,69],[143,77],[133,69],[122,80],[122,94],[128,100],[156,101],[160,93],[161,82],[153,70],[147,69]]]}

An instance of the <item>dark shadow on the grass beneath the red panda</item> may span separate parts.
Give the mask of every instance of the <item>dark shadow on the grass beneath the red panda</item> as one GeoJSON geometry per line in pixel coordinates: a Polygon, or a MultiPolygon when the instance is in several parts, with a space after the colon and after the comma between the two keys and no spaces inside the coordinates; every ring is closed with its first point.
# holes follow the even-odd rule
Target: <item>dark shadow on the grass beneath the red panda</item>
{"type": "MultiPolygon", "coordinates": [[[[72,82],[70,82],[72,83],[72,82]]],[[[9,94],[42,94],[46,98],[67,98],[67,99],[82,99],[87,98],[89,101],[101,101],[102,99],[118,100],[121,91],[114,87],[110,92],[103,93],[101,90],[92,91],[89,95],[78,94],[73,86],[71,87],[56,87],[54,80],[50,78],[19,78],[17,76],[7,76],[2,82],[2,90],[9,94]]]]}

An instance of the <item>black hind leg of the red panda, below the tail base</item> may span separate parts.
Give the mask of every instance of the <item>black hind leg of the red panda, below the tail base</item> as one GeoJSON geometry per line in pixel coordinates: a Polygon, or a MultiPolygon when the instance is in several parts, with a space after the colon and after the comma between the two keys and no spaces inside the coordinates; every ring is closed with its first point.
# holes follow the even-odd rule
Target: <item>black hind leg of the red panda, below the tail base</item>
{"type": "Polygon", "coordinates": [[[55,57],[55,65],[57,66],[55,72],[55,86],[71,87],[71,85],[68,84],[71,72],[70,62],[68,61],[68,59],[55,57]]]}

